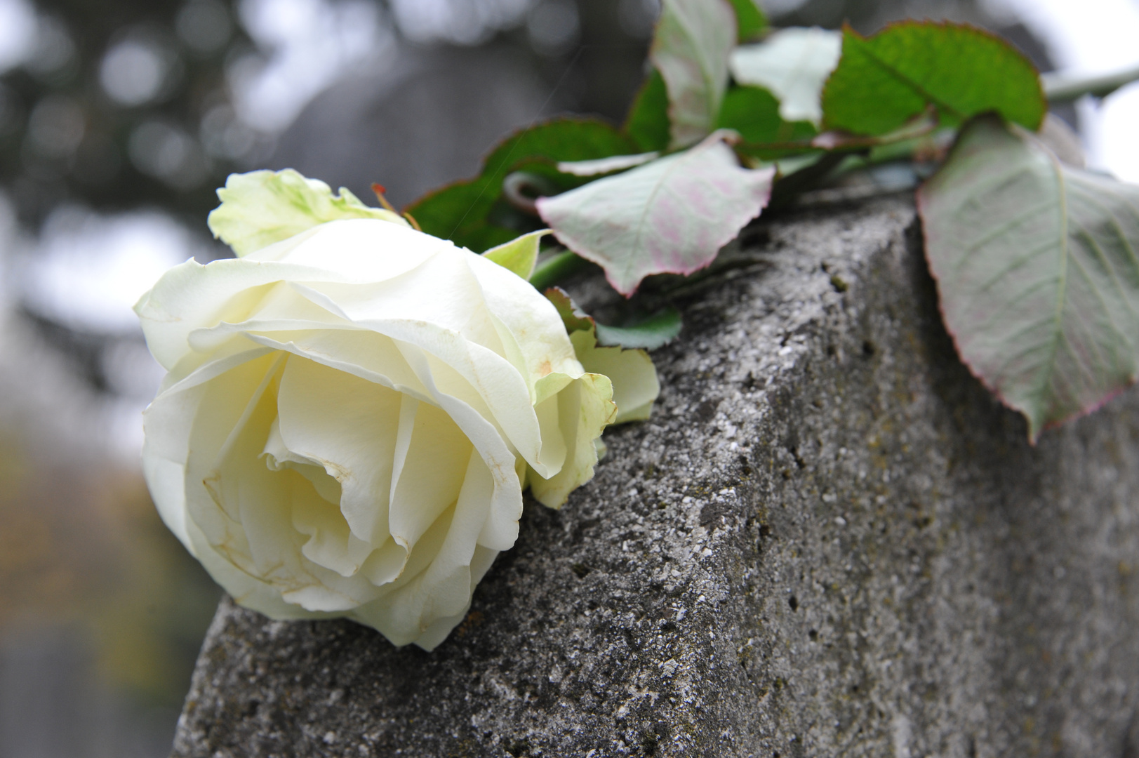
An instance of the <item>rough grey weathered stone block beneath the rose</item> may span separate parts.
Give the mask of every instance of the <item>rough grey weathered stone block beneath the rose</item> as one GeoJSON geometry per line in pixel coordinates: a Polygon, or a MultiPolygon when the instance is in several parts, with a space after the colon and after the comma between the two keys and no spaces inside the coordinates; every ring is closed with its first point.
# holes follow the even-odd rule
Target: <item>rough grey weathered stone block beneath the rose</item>
{"type": "Polygon", "coordinates": [[[919,241],[903,199],[749,229],[448,642],[224,602],[174,755],[1139,755],[1139,394],[1030,447],[919,241]]]}

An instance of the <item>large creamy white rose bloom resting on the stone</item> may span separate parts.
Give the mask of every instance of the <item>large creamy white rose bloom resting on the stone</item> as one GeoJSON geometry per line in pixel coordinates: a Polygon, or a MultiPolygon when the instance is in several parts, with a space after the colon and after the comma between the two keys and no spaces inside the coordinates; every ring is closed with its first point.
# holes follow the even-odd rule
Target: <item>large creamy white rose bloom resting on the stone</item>
{"type": "Polygon", "coordinates": [[[433,649],[514,545],[523,490],[564,503],[616,413],[527,282],[391,220],[187,261],[136,309],[169,372],[145,414],[158,511],[274,619],[433,649]]]}

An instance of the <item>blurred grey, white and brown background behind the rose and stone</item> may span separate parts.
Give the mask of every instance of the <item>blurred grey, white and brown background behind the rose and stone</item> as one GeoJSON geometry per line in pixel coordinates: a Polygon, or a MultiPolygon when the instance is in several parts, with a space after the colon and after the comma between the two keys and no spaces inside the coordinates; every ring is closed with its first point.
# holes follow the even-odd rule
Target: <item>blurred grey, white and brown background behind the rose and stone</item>
{"type": "MultiPolygon", "coordinates": [[[[997,31],[1043,71],[1139,64],[1139,0],[763,0],[777,25],[997,31]]],[[[0,0],[0,758],[167,755],[218,589],[139,471],[161,378],[131,305],[227,252],[232,171],[396,205],[509,131],[620,121],[657,0],[0,0]]],[[[1066,106],[1139,181],[1139,88],[1066,106]]]]}

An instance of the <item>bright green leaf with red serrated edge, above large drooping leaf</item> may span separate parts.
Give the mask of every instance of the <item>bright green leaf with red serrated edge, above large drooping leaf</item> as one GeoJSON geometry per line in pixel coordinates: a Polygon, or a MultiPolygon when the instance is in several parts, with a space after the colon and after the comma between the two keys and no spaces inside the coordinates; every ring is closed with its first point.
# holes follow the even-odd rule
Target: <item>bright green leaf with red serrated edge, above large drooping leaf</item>
{"type": "Polygon", "coordinates": [[[902,22],[874,36],[843,30],[843,57],[822,90],[823,125],[885,135],[936,107],[943,123],[995,111],[1035,130],[1048,109],[1027,58],[962,24],[902,22]]]}

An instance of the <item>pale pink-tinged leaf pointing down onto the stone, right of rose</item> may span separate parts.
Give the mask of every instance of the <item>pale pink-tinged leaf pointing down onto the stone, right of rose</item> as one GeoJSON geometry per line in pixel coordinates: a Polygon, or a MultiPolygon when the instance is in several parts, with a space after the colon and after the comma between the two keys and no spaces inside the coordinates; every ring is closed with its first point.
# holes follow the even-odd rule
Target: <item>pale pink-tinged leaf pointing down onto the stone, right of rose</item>
{"type": "Polygon", "coordinates": [[[775,169],[741,169],[714,133],[699,145],[538,201],[562,243],[631,295],[652,274],[691,274],[763,210],[775,169]]]}

